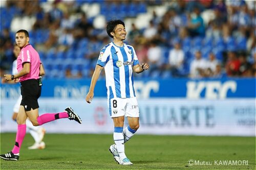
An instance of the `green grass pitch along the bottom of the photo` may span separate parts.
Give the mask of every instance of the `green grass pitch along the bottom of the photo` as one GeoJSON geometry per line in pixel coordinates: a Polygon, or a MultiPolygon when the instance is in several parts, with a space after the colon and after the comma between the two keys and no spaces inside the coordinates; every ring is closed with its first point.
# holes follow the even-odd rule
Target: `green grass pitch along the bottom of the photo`
{"type": "MultiPolygon", "coordinates": [[[[1,154],[14,139],[14,133],[1,134],[1,154]]],[[[28,150],[33,140],[27,134],[19,161],[1,160],[1,169],[255,169],[255,137],[135,135],[125,143],[131,166],[117,164],[109,153],[112,134],[46,134],[44,141],[45,150],[28,150]],[[188,165],[190,159],[197,165],[188,165]],[[224,160],[248,165],[221,165],[224,160]]]]}

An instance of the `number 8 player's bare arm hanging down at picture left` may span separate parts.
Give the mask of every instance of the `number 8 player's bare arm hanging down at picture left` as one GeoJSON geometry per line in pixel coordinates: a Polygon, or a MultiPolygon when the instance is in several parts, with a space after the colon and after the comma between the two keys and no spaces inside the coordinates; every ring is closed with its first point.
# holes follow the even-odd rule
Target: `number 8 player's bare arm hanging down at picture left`
{"type": "Polygon", "coordinates": [[[99,79],[99,75],[100,75],[100,72],[101,72],[102,68],[103,67],[100,66],[100,65],[96,65],[96,67],[95,67],[93,77],[92,77],[92,81],[91,81],[91,85],[90,85],[90,89],[89,89],[89,92],[86,96],[87,103],[91,103],[91,101],[93,100],[94,88],[95,88],[96,82],[99,79]]]}

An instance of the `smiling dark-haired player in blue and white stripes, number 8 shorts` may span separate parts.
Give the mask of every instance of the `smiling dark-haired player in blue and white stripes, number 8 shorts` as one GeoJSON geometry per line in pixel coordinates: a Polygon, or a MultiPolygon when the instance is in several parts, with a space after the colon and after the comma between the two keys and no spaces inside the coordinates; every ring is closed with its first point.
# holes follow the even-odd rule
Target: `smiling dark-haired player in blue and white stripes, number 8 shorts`
{"type": "Polygon", "coordinates": [[[147,63],[139,65],[133,46],[123,42],[126,36],[123,21],[109,21],[106,32],[114,41],[100,51],[86,101],[92,102],[96,82],[104,67],[109,112],[114,122],[115,144],[110,146],[109,151],[119,164],[132,165],[124,153],[124,143],[129,141],[139,128],[139,108],[133,87],[133,71],[140,73],[150,66],[147,63]],[[124,116],[129,123],[125,129],[124,116]]]}

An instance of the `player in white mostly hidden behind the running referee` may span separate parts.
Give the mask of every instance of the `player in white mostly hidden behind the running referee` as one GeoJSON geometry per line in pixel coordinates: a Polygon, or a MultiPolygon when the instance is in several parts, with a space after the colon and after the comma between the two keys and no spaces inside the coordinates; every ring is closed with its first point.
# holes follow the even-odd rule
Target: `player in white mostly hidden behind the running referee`
{"type": "MultiPolygon", "coordinates": [[[[13,47],[13,54],[16,58],[18,57],[19,52],[20,52],[20,48],[18,47],[18,45],[15,44],[13,47]]],[[[17,73],[18,73],[18,70],[17,70],[17,59],[16,59],[12,63],[12,74],[15,75],[17,73]]],[[[40,76],[42,76],[42,75],[40,75],[40,76]]],[[[4,80],[4,79],[2,79],[2,80],[4,80]]],[[[2,81],[2,83],[6,83],[6,82],[2,81]]],[[[9,81],[8,83],[13,84],[15,82],[14,82],[14,80],[12,80],[12,81],[9,81]]],[[[22,102],[22,95],[19,96],[18,100],[16,101],[16,104],[13,107],[12,119],[15,122],[17,119],[19,105],[21,102],[22,102]]],[[[28,147],[28,149],[30,149],[30,150],[45,149],[46,144],[44,141],[42,141],[42,139],[44,138],[45,132],[46,132],[45,128],[33,126],[28,118],[26,120],[26,125],[27,125],[27,130],[29,131],[29,133],[31,134],[33,139],[35,140],[35,143],[31,147],[28,147]]]]}

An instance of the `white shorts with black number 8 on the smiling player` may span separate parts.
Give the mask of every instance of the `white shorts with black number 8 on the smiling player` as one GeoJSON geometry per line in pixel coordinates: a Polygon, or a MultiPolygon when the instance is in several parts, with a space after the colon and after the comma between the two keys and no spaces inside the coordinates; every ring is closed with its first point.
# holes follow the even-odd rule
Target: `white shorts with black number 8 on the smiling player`
{"type": "Polygon", "coordinates": [[[139,117],[139,106],[135,98],[113,98],[109,100],[109,112],[111,117],[139,117]]]}

